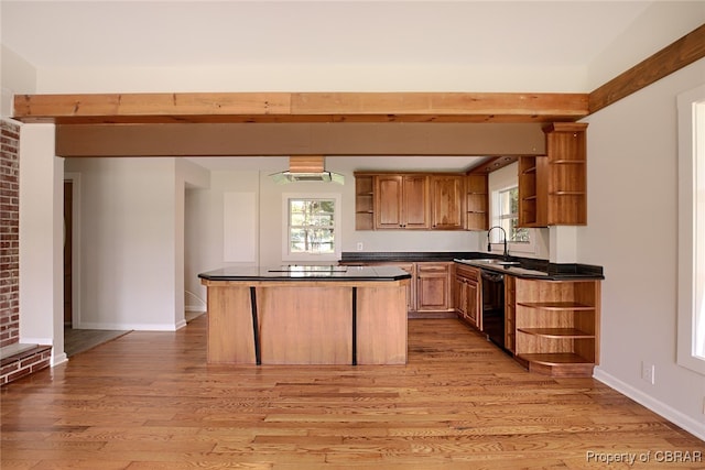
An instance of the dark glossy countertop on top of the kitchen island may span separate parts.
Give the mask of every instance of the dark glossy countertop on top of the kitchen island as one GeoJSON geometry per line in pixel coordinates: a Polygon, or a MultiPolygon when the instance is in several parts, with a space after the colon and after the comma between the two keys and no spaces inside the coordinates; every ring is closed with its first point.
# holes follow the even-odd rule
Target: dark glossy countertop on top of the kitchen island
{"type": "Polygon", "coordinates": [[[411,274],[397,266],[280,265],[223,267],[198,274],[206,281],[401,281],[411,274]]]}

